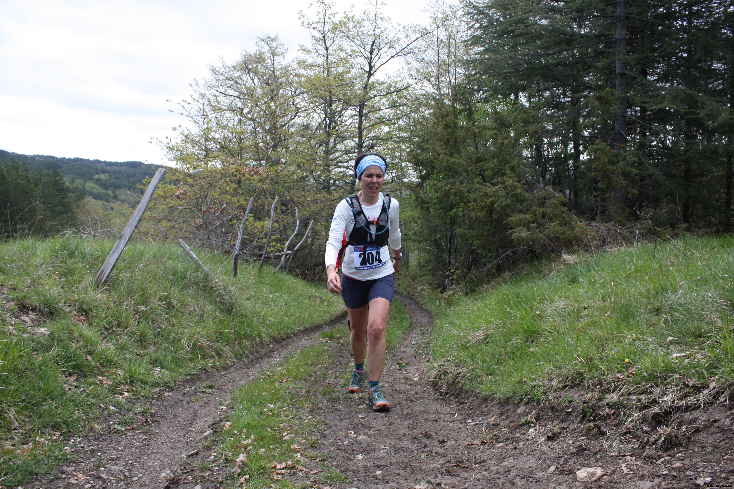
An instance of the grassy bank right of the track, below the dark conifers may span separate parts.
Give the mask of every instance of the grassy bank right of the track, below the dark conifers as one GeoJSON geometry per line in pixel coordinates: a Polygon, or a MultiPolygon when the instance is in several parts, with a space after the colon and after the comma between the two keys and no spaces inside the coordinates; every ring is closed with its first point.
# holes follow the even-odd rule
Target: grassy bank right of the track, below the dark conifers
{"type": "Polygon", "coordinates": [[[582,385],[638,410],[712,402],[734,379],[733,279],[732,236],[564,256],[451,307],[432,301],[433,355],[499,399],[582,385]]]}

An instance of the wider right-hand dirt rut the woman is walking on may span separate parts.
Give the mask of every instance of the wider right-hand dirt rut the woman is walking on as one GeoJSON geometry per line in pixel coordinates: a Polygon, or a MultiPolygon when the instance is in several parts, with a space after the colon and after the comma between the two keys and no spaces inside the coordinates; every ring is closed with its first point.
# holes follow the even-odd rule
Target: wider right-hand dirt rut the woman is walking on
{"type": "MultiPolygon", "coordinates": [[[[710,454],[708,466],[696,452],[658,454],[657,460],[672,456],[664,462],[674,468],[667,468],[642,458],[642,450],[617,454],[605,449],[603,439],[584,436],[578,412],[561,410],[555,421],[546,416],[546,423],[539,415],[537,424],[523,424],[528,408],[440,396],[426,378],[424,351],[432,318],[410,298],[398,297],[410,312],[413,330],[385,362],[381,384],[393,409],[373,413],[365,394],[322,400],[318,414],[325,424],[316,450],[330,454],[330,464],[351,480],[339,487],[692,488],[707,476],[712,480],[706,487],[731,487],[720,485],[732,467],[723,458],[726,452],[721,457],[710,454]],[[565,430],[544,441],[543,432],[552,432],[554,426],[565,430]],[[576,481],[578,469],[597,466],[606,476],[585,484],[576,481]]],[[[349,363],[348,348],[342,347],[338,361],[349,363]]],[[[324,386],[343,389],[338,379],[324,386]]]]}

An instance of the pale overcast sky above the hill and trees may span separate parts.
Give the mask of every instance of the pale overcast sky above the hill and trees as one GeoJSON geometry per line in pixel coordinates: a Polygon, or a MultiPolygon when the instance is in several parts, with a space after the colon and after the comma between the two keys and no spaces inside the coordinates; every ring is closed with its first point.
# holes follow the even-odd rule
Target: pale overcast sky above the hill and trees
{"type": "MultiPolygon", "coordinates": [[[[362,1],[336,0],[344,11],[362,1]]],[[[427,23],[427,0],[387,0],[399,23],[427,23]]],[[[0,0],[0,149],[160,164],[152,137],[220,57],[260,35],[308,43],[295,0],[0,0]]]]}

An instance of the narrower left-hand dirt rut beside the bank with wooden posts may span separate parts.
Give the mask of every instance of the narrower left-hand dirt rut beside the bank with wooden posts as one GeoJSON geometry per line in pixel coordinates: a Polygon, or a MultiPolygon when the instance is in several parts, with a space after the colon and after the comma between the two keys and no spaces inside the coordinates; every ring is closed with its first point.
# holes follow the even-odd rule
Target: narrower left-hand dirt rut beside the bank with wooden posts
{"type": "MultiPolygon", "coordinates": [[[[150,489],[216,487],[214,480],[198,480],[195,468],[211,452],[204,448],[206,438],[213,434],[210,430],[229,416],[230,409],[225,402],[232,391],[292,351],[318,343],[316,336],[321,331],[343,322],[346,314],[271,344],[271,349],[260,358],[241,361],[221,372],[203,372],[189,378],[181,387],[151,402],[154,412],[137,415],[135,428],[75,439],[70,448],[76,452],[76,458],[61,468],[59,477],[32,485],[79,489],[123,485],[150,489]]],[[[113,427],[117,420],[106,422],[113,427]]]]}

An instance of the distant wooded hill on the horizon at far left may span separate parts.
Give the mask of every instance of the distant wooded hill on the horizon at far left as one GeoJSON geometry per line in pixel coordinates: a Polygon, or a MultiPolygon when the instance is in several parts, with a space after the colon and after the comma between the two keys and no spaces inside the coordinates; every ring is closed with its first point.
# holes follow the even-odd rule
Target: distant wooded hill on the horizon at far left
{"type": "Polygon", "coordinates": [[[78,182],[84,195],[104,202],[130,201],[137,204],[141,190],[137,188],[145,177],[155,173],[153,164],[143,162],[105,162],[100,159],[59,158],[48,155],[28,155],[0,150],[0,159],[15,159],[29,170],[59,168],[71,183],[78,182]]]}

